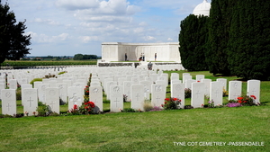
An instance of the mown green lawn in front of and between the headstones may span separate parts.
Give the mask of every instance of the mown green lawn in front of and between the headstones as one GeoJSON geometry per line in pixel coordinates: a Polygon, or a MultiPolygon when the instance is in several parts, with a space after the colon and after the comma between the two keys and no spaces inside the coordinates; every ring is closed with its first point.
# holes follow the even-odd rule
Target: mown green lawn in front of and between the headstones
{"type": "MultiPolygon", "coordinates": [[[[178,73],[182,77],[183,71],[178,73]]],[[[191,75],[217,78],[204,71],[191,75]]],[[[237,77],[228,78],[233,79],[237,77]]],[[[269,90],[270,82],[262,82],[264,106],[4,118],[0,119],[0,151],[269,151],[269,90]],[[175,142],[185,142],[185,146],[175,142]],[[196,142],[196,146],[188,146],[196,142]],[[203,142],[225,145],[202,146],[203,142]],[[264,146],[229,146],[229,142],[264,146]]],[[[169,96],[169,89],[167,92],[169,96]]],[[[243,82],[246,92],[247,82],[243,82]]],[[[190,99],[185,105],[190,105],[190,99]]],[[[124,108],[129,107],[130,103],[124,103],[124,108]]],[[[109,110],[110,103],[103,103],[103,111],[109,110]]],[[[23,107],[18,106],[17,111],[23,112],[23,107]]],[[[67,105],[60,106],[60,111],[67,112],[67,105]]]]}

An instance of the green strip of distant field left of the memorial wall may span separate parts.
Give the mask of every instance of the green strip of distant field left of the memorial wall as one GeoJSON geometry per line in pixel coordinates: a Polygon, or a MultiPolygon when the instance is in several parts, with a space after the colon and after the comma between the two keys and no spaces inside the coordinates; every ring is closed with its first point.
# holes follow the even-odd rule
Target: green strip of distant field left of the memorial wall
{"type": "Polygon", "coordinates": [[[97,60],[40,60],[40,61],[11,61],[7,60],[1,64],[1,67],[5,67],[6,64],[10,67],[28,67],[28,66],[68,66],[68,65],[96,65],[97,60]]]}

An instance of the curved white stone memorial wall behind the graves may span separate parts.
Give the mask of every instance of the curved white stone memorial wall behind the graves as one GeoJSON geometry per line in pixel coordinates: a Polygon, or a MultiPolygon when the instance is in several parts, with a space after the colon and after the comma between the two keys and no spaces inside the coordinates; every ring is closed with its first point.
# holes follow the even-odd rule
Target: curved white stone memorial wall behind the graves
{"type": "Polygon", "coordinates": [[[179,42],[168,43],[123,43],[103,42],[102,59],[104,61],[124,61],[125,54],[130,61],[139,60],[144,56],[145,61],[175,61],[180,63],[179,42]]]}

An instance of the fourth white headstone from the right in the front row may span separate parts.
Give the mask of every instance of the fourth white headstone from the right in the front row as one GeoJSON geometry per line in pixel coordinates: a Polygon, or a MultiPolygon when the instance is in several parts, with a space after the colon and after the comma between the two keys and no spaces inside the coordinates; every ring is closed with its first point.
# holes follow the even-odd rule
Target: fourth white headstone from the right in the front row
{"type": "Polygon", "coordinates": [[[205,84],[195,82],[192,84],[191,105],[193,108],[200,108],[204,104],[205,84]]]}

